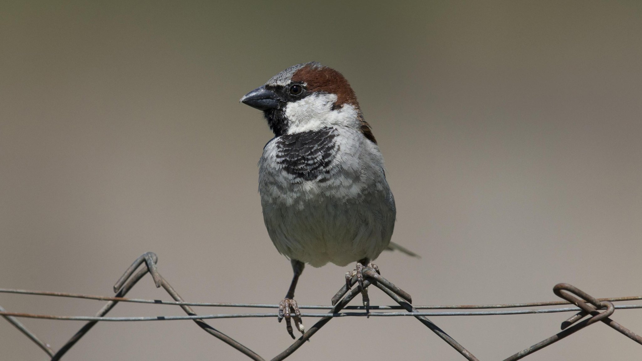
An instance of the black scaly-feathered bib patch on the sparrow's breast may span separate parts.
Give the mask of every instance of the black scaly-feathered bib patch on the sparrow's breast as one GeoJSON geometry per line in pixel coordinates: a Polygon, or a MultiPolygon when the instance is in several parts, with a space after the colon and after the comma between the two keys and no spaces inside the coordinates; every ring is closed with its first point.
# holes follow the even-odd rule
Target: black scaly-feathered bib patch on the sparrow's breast
{"type": "Polygon", "coordinates": [[[334,138],[337,135],[334,128],[281,135],[276,144],[277,163],[297,181],[317,178],[325,181],[336,156],[334,138]]]}

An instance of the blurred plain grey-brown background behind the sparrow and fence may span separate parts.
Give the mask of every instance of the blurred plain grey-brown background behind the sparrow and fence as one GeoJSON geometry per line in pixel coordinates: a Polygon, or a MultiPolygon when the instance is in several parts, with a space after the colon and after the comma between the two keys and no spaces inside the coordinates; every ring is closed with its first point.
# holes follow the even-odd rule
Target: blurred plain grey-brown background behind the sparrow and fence
{"type": "MultiPolygon", "coordinates": [[[[559,282],[642,294],[641,38],[639,1],[3,1],[0,287],[111,295],[154,251],[189,301],[277,303],[291,268],[263,225],[256,166],[272,133],[238,99],[316,60],[351,81],[379,141],[393,240],[422,258],[377,264],[415,304],[550,301],[559,282]]],[[[297,300],[329,304],[345,271],[306,268],[297,300]]],[[[128,296],[169,299],[149,276],[128,296]]],[[[103,302],[0,305],[93,315],[103,302]]],[[[433,321],[487,361],[569,315],[433,321]]],[[[641,310],[612,318],[642,333],[641,310]]],[[[2,360],[48,359],[0,321],[2,360]]],[[[56,349],[82,326],[23,321],[56,349]]],[[[266,358],[291,343],[275,319],[211,324],[266,358]]],[[[406,317],[336,319],[291,359],[336,357],[464,359],[406,317]]],[[[598,323],[527,359],[641,357],[598,323]]],[[[190,321],[100,323],[64,358],[114,359],[246,358],[190,321]]]]}

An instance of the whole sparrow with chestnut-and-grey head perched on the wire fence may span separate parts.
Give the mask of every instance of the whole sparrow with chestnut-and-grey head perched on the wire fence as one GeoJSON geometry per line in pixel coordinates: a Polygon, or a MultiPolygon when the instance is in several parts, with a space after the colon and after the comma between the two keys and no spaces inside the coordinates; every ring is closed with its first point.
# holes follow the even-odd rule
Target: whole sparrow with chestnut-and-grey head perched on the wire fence
{"type": "Polygon", "coordinates": [[[268,235],[290,259],[293,278],[279,303],[279,322],[294,339],[291,319],[305,328],[294,300],[305,264],[345,266],[347,288],[384,249],[411,251],[390,242],[395,199],[383,156],[352,87],[338,71],[318,62],[300,63],[272,76],[241,97],[263,111],[274,137],[259,160],[259,194],[268,235]]]}

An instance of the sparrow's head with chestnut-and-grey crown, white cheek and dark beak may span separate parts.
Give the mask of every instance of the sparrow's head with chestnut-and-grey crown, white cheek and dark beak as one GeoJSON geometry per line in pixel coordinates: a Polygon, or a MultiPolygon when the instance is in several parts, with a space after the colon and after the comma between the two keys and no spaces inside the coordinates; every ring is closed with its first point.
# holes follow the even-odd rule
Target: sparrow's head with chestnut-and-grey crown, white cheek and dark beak
{"type": "Polygon", "coordinates": [[[245,94],[241,103],[263,110],[277,137],[342,126],[360,130],[376,143],[348,81],[340,72],[317,62],[279,72],[245,94]]]}

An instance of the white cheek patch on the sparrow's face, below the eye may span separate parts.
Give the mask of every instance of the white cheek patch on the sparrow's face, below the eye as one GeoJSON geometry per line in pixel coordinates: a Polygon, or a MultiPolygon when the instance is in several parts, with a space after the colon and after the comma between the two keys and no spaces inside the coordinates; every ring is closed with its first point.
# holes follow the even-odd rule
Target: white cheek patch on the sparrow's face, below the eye
{"type": "Polygon", "coordinates": [[[311,94],[299,101],[289,103],[285,115],[290,121],[288,133],[320,130],[328,126],[358,127],[357,111],[345,104],[333,110],[335,94],[311,94]]]}

